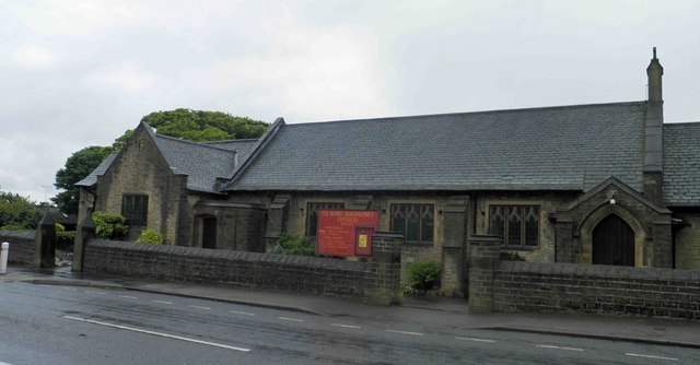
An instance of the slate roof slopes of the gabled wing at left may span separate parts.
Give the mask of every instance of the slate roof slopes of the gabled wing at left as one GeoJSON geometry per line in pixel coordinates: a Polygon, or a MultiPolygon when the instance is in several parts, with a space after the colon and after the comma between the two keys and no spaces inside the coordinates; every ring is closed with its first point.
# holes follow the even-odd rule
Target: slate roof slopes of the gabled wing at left
{"type": "MultiPolygon", "coordinates": [[[[249,156],[250,149],[257,140],[230,140],[220,142],[191,142],[153,132],[144,123],[159,151],[173,173],[187,175],[187,189],[203,192],[219,192],[217,178],[231,178],[249,156]],[[237,165],[236,152],[238,151],[237,165]]],[[[79,186],[93,186],[97,176],[105,174],[118,153],[110,154],[79,186]]]]}

